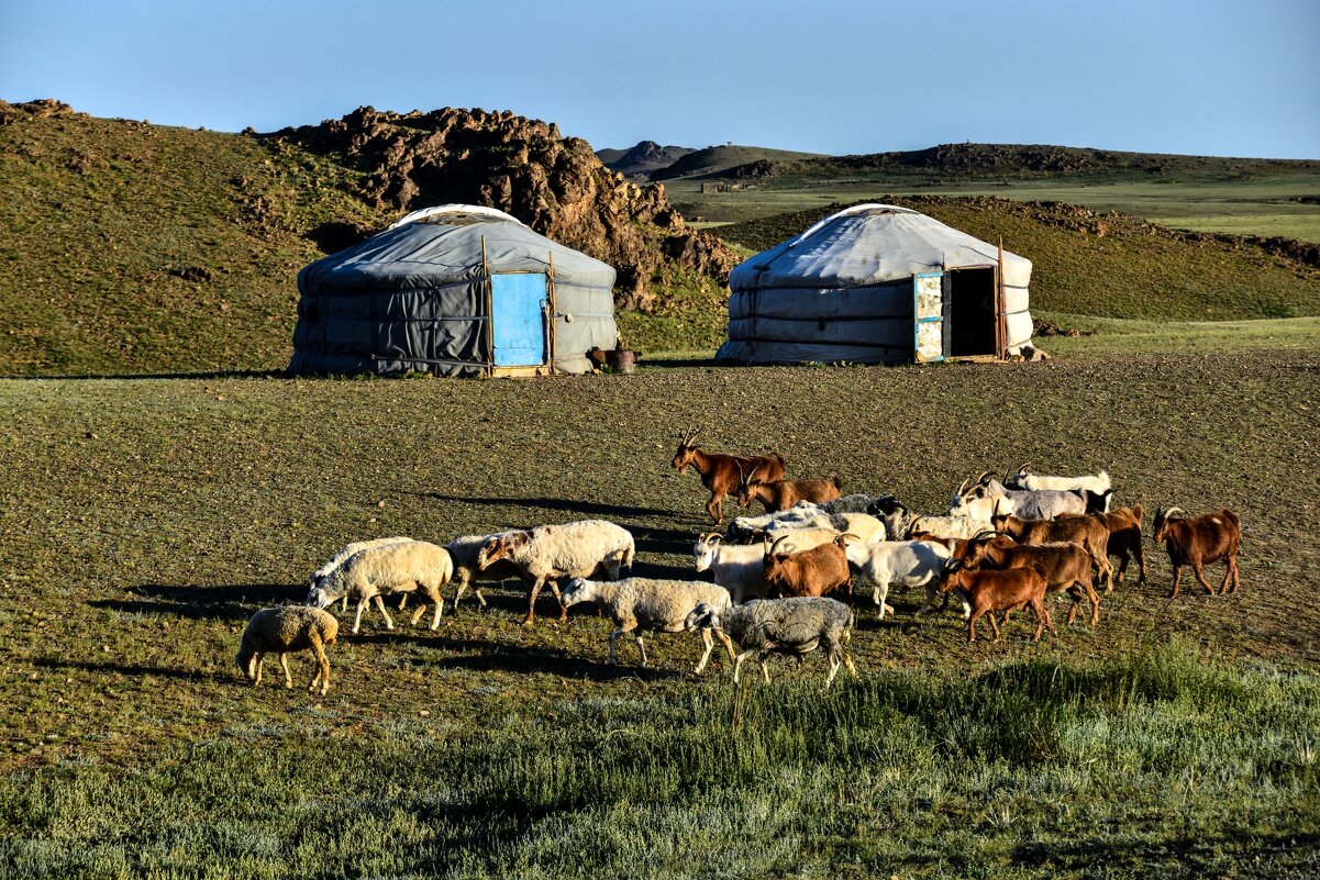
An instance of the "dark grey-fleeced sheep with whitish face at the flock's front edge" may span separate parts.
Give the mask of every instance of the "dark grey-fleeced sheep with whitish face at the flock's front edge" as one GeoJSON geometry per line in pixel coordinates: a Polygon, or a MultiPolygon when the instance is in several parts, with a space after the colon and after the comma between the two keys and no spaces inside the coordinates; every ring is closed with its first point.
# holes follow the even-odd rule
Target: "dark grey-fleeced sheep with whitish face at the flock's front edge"
{"type": "Polygon", "coordinates": [[[715,632],[731,636],[742,648],[734,658],[734,683],[742,662],[751,654],[759,654],[760,672],[770,683],[771,653],[809,654],[824,648],[829,657],[829,687],[838,673],[840,664],[857,678],[853,658],[843,650],[851,637],[855,617],[853,610],[837,599],[817,596],[797,596],[792,599],[755,599],[744,606],[714,608],[697,606],[688,615],[685,628],[700,629],[710,627],[715,632]]]}

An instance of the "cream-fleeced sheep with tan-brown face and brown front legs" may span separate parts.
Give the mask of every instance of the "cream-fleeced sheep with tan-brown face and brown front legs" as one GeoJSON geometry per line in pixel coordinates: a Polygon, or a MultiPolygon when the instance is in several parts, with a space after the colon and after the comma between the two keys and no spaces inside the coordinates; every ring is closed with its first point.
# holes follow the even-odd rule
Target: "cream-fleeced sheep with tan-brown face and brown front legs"
{"type": "Polygon", "coordinates": [[[527,619],[536,620],[536,596],[549,583],[560,606],[560,620],[569,615],[560,596],[558,578],[590,578],[603,571],[618,581],[622,569],[631,569],[636,548],[623,526],[606,520],[581,520],[564,525],[539,525],[491,536],[477,554],[480,570],[508,559],[528,586],[527,619]]]}

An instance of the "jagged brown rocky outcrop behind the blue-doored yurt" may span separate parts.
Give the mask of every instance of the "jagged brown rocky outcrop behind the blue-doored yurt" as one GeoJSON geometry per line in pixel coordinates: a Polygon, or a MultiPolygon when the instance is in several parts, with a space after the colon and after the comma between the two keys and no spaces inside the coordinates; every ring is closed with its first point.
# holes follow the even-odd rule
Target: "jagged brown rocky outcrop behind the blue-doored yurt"
{"type": "Polygon", "coordinates": [[[607,169],[585,140],[512,112],[359,107],[273,137],[359,170],[362,194],[378,208],[467,202],[512,214],[618,269],[622,309],[651,309],[653,288],[678,267],[723,282],[737,263],[719,239],[686,227],[663,186],[638,186],[607,169]]]}

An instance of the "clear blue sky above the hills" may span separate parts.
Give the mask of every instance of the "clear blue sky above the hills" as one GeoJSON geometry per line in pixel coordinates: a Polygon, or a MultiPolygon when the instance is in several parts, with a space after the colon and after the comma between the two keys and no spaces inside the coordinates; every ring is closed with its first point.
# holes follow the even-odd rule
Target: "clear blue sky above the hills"
{"type": "Polygon", "coordinates": [[[482,107],[597,149],[1320,158],[1320,0],[0,0],[0,98],[216,131],[482,107]]]}

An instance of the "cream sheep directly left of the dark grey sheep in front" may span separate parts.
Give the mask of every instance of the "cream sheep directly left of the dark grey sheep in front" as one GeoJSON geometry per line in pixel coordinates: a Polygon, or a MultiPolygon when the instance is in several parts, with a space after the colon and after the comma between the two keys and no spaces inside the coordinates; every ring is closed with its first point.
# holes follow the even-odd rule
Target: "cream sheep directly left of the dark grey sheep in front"
{"type": "MultiPolygon", "coordinates": [[[[688,615],[697,606],[705,604],[711,608],[730,606],[729,591],[721,586],[701,581],[653,581],[651,578],[628,578],[612,583],[574,578],[569,582],[568,590],[564,591],[564,606],[570,607],[579,602],[595,603],[614,620],[615,629],[610,633],[610,665],[618,662],[614,653],[614,640],[620,633],[632,633],[638,641],[638,653],[642,654],[643,669],[647,666],[647,646],[642,643],[642,632],[684,632],[688,615]]],[[[729,641],[729,636],[718,635],[731,661],[734,646],[729,641]]],[[[701,629],[701,643],[705,650],[697,668],[692,670],[697,676],[706,668],[706,661],[710,660],[710,650],[714,646],[709,627],[701,629]]]]}

